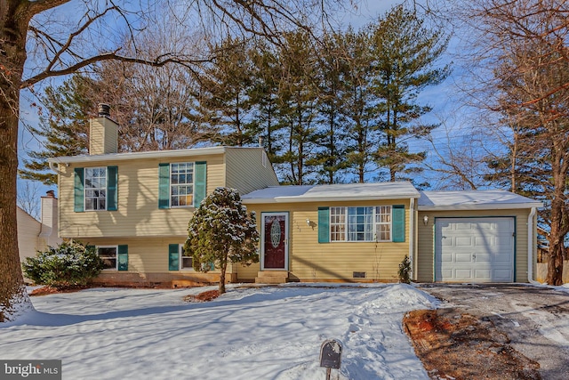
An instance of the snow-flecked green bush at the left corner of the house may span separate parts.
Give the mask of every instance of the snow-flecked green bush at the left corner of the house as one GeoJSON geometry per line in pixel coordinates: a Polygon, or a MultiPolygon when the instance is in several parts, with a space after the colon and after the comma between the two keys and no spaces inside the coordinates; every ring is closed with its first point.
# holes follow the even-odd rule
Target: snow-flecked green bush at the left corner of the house
{"type": "Polygon", "coordinates": [[[61,288],[87,284],[103,269],[103,262],[94,247],[70,240],[27,257],[21,266],[36,284],[61,288]]]}

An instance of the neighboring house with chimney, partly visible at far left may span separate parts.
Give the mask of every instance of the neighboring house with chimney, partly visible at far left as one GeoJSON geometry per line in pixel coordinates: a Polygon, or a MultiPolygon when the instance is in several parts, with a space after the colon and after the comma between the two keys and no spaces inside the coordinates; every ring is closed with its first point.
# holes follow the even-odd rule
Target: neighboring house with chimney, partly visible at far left
{"type": "Polygon", "coordinates": [[[20,262],[62,241],[58,238],[58,205],[53,191],[47,191],[41,202],[41,222],[20,207],[17,208],[20,262]]]}

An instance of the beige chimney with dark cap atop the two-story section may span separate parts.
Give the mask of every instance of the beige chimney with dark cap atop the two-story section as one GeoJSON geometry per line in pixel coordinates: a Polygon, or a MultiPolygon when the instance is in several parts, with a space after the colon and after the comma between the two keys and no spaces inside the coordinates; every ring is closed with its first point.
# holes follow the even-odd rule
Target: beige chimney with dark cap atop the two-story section
{"type": "Polygon", "coordinates": [[[89,154],[118,152],[118,125],[110,118],[110,106],[99,104],[99,116],[89,123],[89,154]]]}

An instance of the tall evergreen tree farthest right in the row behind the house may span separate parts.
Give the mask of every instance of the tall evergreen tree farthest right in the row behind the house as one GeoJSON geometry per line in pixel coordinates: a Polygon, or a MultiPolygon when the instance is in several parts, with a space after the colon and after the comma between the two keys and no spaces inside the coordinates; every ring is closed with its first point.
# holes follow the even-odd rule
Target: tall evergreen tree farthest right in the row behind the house
{"type": "Polygon", "coordinates": [[[426,157],[424,151],[411,153],[407,141],[436,126],[417,122],[431,108],[417,104],[416,99],[425,87],[437,85],[448,76],[448,66],[435,68],[447,43],[441,30],[426,28],[423,20],[402,5],[373,27],[373,86],[381,98],[377,112],[382,134],[376,161],[387,168],[389,181],[407,179],[400,173],[419,171],[412,164],[426,157]]]}

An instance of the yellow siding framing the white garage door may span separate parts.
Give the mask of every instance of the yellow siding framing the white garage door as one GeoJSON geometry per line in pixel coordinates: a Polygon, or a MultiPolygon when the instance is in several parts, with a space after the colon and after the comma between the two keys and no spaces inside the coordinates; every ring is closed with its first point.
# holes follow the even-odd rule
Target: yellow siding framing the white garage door
{"type": "Polygon", "coordinates": [[[513,210],[482,210],[482,211],[421,211],[418,217],[417,242],[418,250],[416,260],[416,279],[418,281],[432,282],[435,266],[435,218],[449,217],[492,217],[510,216],[516,217],[516,281],[527,282],[527,217],[529,209],[513,210]],[[423,216],[429,216],[429,224],[422,222],[423,216]]]}

